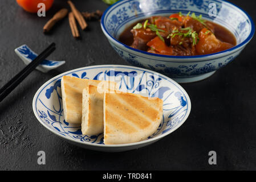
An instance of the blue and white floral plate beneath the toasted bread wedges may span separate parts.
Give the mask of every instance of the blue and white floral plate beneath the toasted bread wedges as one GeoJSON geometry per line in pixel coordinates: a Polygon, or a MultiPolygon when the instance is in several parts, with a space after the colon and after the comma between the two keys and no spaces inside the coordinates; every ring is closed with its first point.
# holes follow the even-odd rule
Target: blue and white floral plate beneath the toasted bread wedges
{"type": "Polygon", "coordinates": [[[119,152],[147,146],[172,133],[188,118],[191,104],[188,94],[177,82],[157,72],[126,65],[96,65],[74,69],[47,81],[36,92],[32,107],[44,127],[68,142],[91,150],[119,152]],[[164,114],[159,128],[148,139],[129,144],[105,145],[103,134],[83,135],[79,125],[64,120],[60,89],[60,80],[64,75],[116,81],[121,91],[161,98],[164,114]]]}

